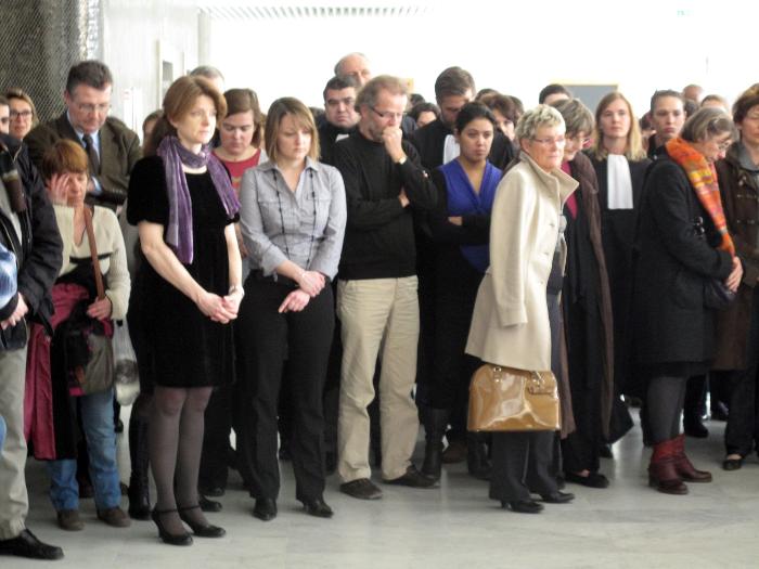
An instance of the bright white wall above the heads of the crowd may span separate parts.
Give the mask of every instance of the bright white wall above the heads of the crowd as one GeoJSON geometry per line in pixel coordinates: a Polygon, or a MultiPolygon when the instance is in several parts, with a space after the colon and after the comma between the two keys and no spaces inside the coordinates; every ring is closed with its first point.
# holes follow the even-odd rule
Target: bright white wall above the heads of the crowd
{"type": "Polygon", "coordinates": [[[211,61],[227,76],[227,87],[252,87],[265,108],[283,95],[321,105],[335,61],[350,51],[366,53],[375,74],[413,78],[415,90],[428,99],[438,73],[460,65],[474,75],[478,88],[515,94],[527,106],[537,103],[539,90],[549,82],[618,83],[642,113],[656,89],[680,90],[697,82],[706,92],[734,100],[758,80],[758,66],[748,56],[755,53],[756,2],[417,0],[411,4],[427,5],[429,15],[215,20],[211,61]],[[735,53],[746,55],[744,64],[736,65],[735,53]]]}

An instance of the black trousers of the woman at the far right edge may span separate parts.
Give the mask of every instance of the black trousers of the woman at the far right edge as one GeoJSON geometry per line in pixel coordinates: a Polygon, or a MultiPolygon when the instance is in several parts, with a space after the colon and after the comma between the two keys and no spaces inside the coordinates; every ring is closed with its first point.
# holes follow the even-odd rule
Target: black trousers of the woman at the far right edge
{"type": "Polygon", "coordinates": [[[728,454],[747,456],[759,443],[759,288],[754,294],[748,332],[747,366],[730,378],[730,414],[724,429],[728,454]]]}

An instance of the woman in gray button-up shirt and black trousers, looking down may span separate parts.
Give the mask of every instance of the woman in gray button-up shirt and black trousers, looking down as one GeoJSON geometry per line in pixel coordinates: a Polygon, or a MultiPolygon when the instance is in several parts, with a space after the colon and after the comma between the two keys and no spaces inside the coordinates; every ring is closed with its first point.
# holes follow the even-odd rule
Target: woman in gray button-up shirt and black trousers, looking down
{"type": "Polygon", "coordinates": [[[269,160],[246,171],[241,185],[240,223],[253,270],[236,326],[244,399],[237,453],[256,500],[253,515],[273,519],[280,491],[278,402],[287,388],[295,495],[307,514],[329,518],[322,392],[335,324],[330,281],[343,247],[345,187],[336,168],[317,161],[319,134],[300,101],[272,103],[266,144],[269,160]]]}

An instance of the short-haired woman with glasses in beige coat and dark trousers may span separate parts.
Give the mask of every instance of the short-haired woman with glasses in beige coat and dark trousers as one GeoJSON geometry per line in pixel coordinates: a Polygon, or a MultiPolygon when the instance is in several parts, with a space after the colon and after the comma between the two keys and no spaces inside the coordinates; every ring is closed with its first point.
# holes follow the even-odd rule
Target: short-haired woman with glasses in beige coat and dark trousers
{"type": "MultiPolygon", "coordinates": [[[[498,187],[490,224],[490,268],[477,293],[466,352],[522,370],[557,370],[564,267],[562,208],[577,182],[559,167],[564,119],[540,105],[516,127],[522,153],[498,187]]],[[[552,431],[493,434],[490,497],[514,512],[537,514],[543,502],[565,503],[550,474],[552,431]]]]}

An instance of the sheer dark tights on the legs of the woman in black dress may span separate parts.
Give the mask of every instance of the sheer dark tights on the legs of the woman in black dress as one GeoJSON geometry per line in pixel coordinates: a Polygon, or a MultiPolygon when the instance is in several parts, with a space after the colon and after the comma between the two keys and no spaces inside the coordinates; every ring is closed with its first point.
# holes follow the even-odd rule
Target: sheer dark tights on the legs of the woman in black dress
{"type": "MultiPolygon", "coordinates": [[[[158,512],[197,504],[204,412],[210,393],[210,387],[155,387],[149,449],[158,512]]],[[[200,508],[188,509],[184,515],[200,523],[205,522],[200,508]]],[[[162,521],[170,533],[184,531],[177,514],[164,514],[162,521]]]]}

